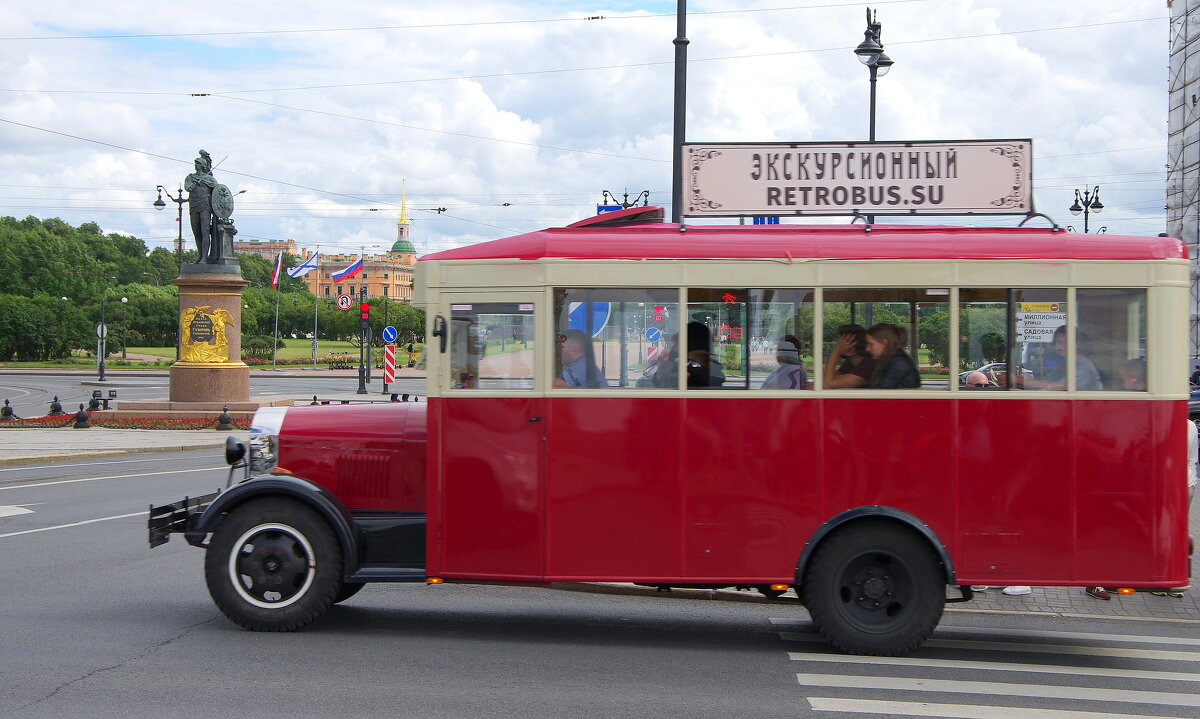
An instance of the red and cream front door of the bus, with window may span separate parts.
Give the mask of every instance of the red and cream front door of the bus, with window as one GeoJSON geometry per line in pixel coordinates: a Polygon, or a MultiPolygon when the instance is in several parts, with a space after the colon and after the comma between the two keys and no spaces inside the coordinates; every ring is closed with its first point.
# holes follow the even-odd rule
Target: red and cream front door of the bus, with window
{"type": "MultiPolygon", "coordinates": [[[[446,295],[443,295],[446,296],[446,295]]],[[[542,569],[544,402],[535,391],[534,294],[450,295],[431,401],[434,570],[538,580],[542,569]]],[[[444,324],[443,324],[444,323],[444,324]]]]}

